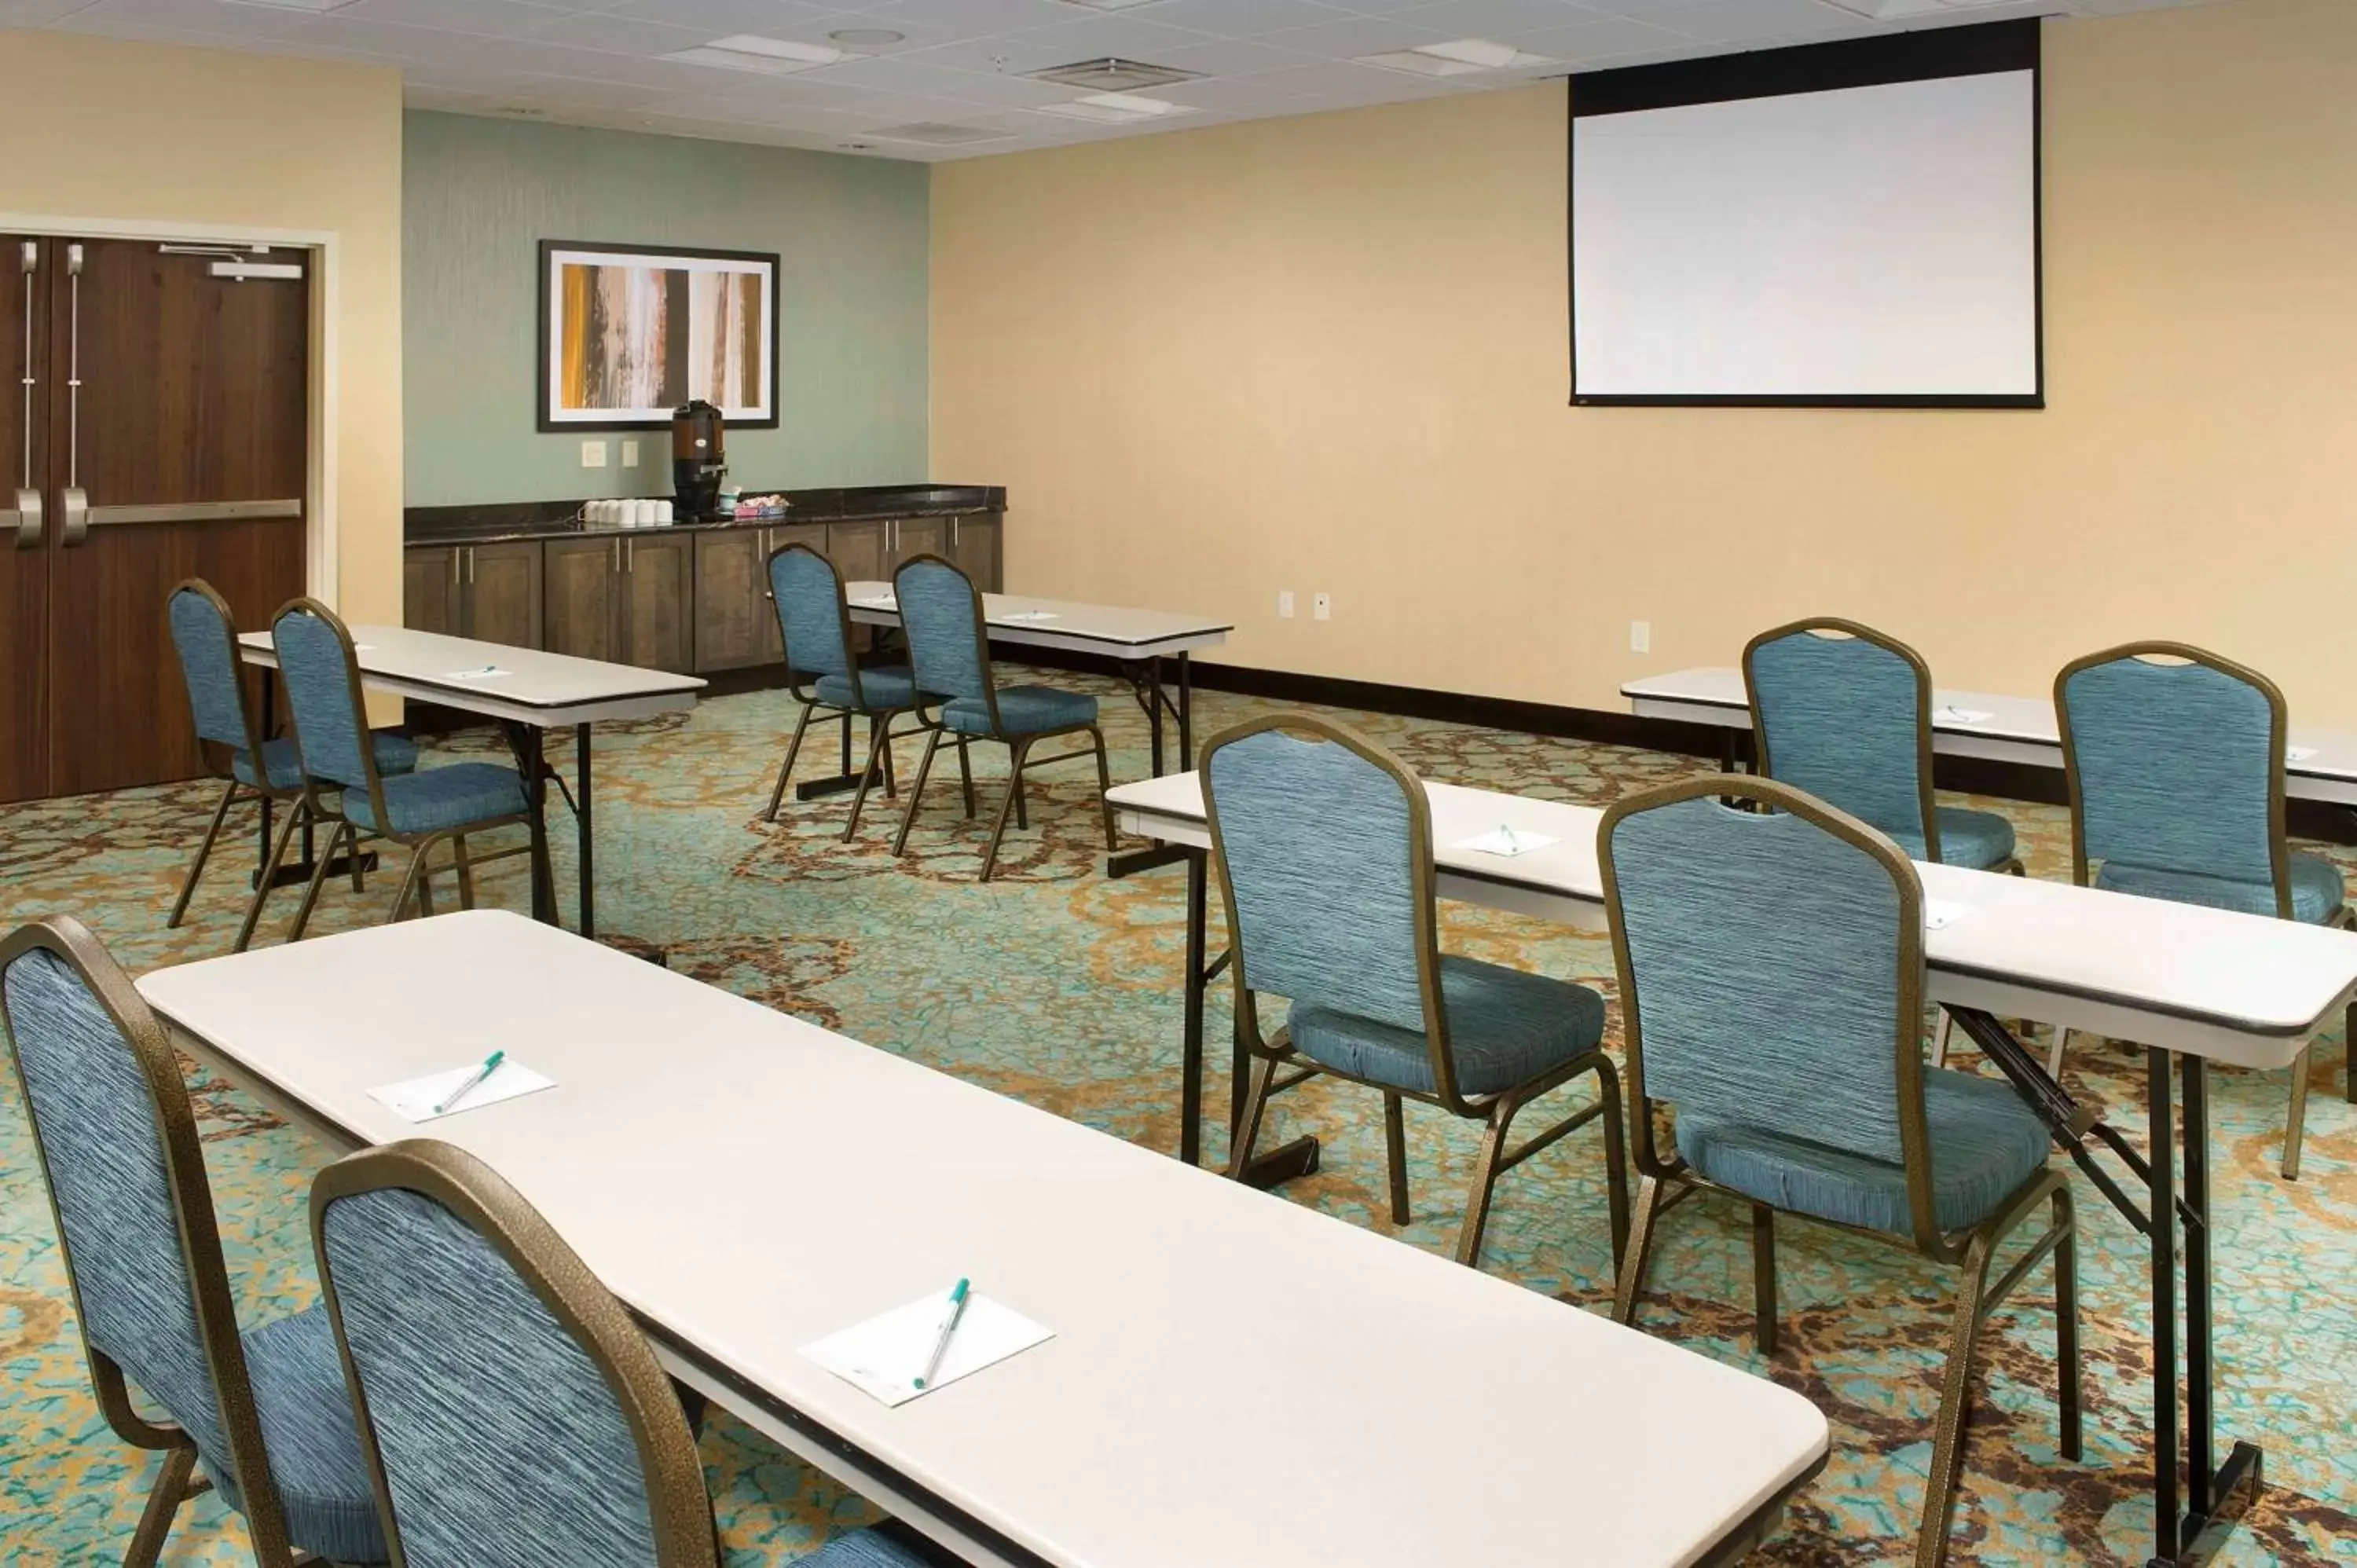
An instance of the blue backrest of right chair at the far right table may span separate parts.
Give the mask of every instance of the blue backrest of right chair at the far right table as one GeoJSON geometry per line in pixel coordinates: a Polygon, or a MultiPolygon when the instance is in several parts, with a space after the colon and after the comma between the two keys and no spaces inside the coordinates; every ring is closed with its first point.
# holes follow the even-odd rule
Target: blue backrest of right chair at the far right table
{"type": "Polygon", "coordinates": [[[2119,861],[2272,887],[2291,913],[2275,681],[2185,644],[2126,644],[2062,667],[2055,717],[2079,882],[2119,861]]]}

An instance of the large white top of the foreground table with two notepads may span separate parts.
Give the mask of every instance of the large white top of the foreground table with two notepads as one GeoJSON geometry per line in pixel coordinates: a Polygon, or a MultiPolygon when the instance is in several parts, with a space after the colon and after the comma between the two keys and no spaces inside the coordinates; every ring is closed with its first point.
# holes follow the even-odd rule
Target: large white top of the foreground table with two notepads
{"type": "Polygon", "coordinates": [[[1049,1563],[1690,1563],[1827,1452],[1765,1379],[516,915],[139,990],[354,1141],[481,1155],[658,1344],[1049,1563]],[[368,1096],[493,1047],[556,1087],[368,1096]],[[898,1410],[797,1353],[957,1276],[1056,1337],[898,1410]]]}

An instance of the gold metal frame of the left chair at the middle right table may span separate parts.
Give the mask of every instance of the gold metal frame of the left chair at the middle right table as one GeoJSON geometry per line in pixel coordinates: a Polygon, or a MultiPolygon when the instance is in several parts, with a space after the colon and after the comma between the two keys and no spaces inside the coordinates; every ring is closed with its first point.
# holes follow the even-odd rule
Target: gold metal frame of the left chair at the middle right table
{"type": "Polygon", "coordinates": [[[1466,1217],[1457,1231],[1457,1261],[1478,1269],[1483,1233],[1490,1224],[1490,1195],[1497,1188],[1497,1179],[1549,1144],[1556,1144],[1570,1132],[1603,1118],[1607,1179],[1605,1205],[1610,1210],[1612,1226],[1612,1261],[1615,1269],[1619,1269],[1622,1247],[1629,1240],[1629,1177],[1622,1158],[1619,1073],[1612,1068],[1612,1059],[1605,1056],[1603,1045],[1596,1045],[1572,1061],[1539,1073],[1513,1089],[1473,1096],[1457,1089],[1457,1056],[1450,1047],[1450,1021],[1440,1000],[1440,922],[1435,913],[1438,894],[1433,889],[1433,809],[1431,799],[1424,795],[1424,783],[1409,773],[1398,757],[1346,724],[1299,712],[1268,714],[1211,736],[1211,740],[1202,747],[1200,769],[1207,780],[1202,802],[1204,818],[1211,828],[1211,861],[1219,865],[1219,891],[1221,898],[1226,898],[1228,910],[1235,910],[1235,884],[1228,877],[1228,846],[1219,828],[1219,797],[1209,788],[1211,757],[1219,755],[1221,747],[1270,729],[1310,733],[1320,740],[1343,745],[1353,755],[1384,769],[1384,773],[1400,785],[1400,797],[1407,802],[1407,861],[1417,903],[1417,983],[1424,993],[1424,1040],[1431,1052],[1435,1087],[1400,1089],[1372,1078],[1360,1078],[1358,1073],[1346,1073],[1343,1068],[1329,1068],[1310,1061],[1294,1049],[1289,1026],[1280,1028],[1275,1035],[1263,1035],[1259,1004],[1244,971],[1247,957],[1242,931],[1230,929],[1228,946],[1235,962],[1228,969],[1235,979],[1235,1028],[1252,1054],[1252,1085],[1244,1092],[1244,1115],[1237,1122],[1235,1146],[1228,1153],[1228,1177],[1244,1179],[1244,1170],[1252,1165],[1252,1146],[1261,1134],[1261,1115],[1266,1113],[1273,1094],[1282,1094],[1285,1089],[1320,1075],[1341,1078],[1343,1082],[1367,1085],[1369,1089],[1381,1089],[1384,1094],[1384,1146],[1391,1167],[1391,1219],[1393,1224],[1407,1224],[1412,1214],[1407,1203],[1407,1129],[1402,1122],[1402,1101],[1414,1099],[1426,1106],[1440,1106],[1452,1115],[1485,1122],[1480,1155],[1473,1162],[1473,1191],[1466,1198],[1466,1217]],[[1280,1078],[1280,1068],[1292,1068],[1292,1073],[1280,1078]],[[1546,1132],[1527,1139],[1520,1148],[1506,1148],[1506,1132],[1513,1127],[1513,1118],[1525,1106],[1586,1073],[1596,1073],[1598,1096],[1593,1103],[1582,1106],[1546,1132]]]}

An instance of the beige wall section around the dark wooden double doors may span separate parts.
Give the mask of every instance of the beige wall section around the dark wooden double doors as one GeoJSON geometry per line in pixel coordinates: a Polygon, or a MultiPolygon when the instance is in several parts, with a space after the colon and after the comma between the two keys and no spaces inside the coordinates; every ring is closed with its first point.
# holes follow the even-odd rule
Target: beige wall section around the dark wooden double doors
{"type": "Polygon", "coordinates": [[[0,31],[0,215],[335,233],[337,599],[401,620],[401,75],[0,31]]]}

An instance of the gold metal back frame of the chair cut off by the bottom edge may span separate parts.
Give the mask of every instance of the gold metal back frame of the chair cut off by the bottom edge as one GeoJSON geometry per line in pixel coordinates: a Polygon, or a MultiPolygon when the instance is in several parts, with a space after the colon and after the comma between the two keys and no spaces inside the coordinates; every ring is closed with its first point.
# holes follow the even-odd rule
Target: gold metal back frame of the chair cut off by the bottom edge
{"type": "Polygon", "coordinates": [[[377,1518],[394,1568],[408,1568],[401,1549],[401,1521],[384,1478],[384,1455],[368,1417],[368,1389],[351,1365],[344,1337],[344,1309],[328,1261],[325,1217],[337,1198],[382,1188],[412,1191],[457,1214],[476,1236],[514,1269],[540,1304],[549,1309],[582,1353],[606,1377],[629,1434],[639,1448],[646,1476],[646,1509],[655,1535],[655,1568],[717,1568],[719,1542],[712,1523],[712,1495],[705,1490],[695,1436],[679,1405],[679,1391],[655,1363],[646,1335],[629,1311],[613,1299],[580,1254],[542,1219],[540,1210],[495,1170],[467,1151],[436,1139],[405,1139],[346,1155],[323,1170],[311,1184],[311,1252],[318,1257],[318,1280],[335,1320],[335,1349],[344,1361],[344,1386],[361,1422],[361,1457],[368,1460],[368,1485],[377,1495],[377,1518]]]}

